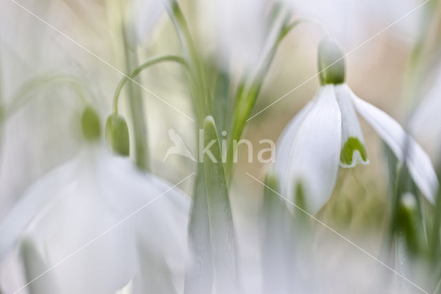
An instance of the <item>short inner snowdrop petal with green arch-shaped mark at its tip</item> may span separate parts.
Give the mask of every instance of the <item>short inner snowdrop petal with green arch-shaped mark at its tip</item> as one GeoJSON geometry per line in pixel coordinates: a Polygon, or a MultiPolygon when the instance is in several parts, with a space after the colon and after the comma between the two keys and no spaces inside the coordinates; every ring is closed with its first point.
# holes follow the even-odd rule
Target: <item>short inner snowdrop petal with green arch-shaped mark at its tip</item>
{"type": "Polygon", "coordinates": [[[356,111],[353,109],[351,90],[347,84],[335,86],[338,106],[342,113],[342,150],[340,166],[352,168],[357,161],[360,164],[369,164],[365,148],[365,140],[361,133],[356,111]]]}

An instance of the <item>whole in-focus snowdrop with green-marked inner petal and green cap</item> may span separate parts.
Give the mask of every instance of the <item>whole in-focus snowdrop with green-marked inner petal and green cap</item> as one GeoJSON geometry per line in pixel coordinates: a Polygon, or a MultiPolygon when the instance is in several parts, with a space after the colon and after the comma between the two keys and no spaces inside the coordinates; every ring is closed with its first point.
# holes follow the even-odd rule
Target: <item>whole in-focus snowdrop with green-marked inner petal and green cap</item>
{"type": "MultiPolygon", "coordinates": [[[[280,136],[276,170],[283,195],[295,198],[298,184],[307,195],[306,208],[320,210],[336,184],[338,166],[368,164],[357,112],[371,124],[400,161],[407,134],[389,115],[358,98],[345,84],[345,60],[329,39],[318,47],[320,88],[314,99],[298,112],[280,136]]],[[[438,179],[428,155],[409,138],[407,166],[422,194],[433,203],[438,179]]]]}

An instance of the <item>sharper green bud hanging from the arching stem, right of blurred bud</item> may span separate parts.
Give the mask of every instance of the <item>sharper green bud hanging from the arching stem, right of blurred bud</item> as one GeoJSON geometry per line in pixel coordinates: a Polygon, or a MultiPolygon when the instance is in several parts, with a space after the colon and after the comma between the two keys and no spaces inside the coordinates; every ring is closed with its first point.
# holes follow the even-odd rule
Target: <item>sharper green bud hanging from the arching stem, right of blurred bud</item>
{"type": "Polygon", "coordinates": [[[124,117],[110,115],[105,123],[105,138],[115,153],[123,156],[130,154],[129,129],[124,117]]]}

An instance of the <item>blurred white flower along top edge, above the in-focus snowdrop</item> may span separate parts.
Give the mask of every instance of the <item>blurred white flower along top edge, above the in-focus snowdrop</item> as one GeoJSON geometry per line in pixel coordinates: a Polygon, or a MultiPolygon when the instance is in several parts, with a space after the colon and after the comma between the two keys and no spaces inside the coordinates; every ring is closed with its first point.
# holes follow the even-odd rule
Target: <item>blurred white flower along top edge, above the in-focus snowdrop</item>
{"type": "Polygon", "coordinates": [[[312,17],[320,21],[329,30],[330,35],[341,43],[365,41],[376,30],[379,31],[398,19],[400,21],[394,24],[391,30],[404,39],[415,39],[418,37],[418,25],[424,16],[423,9],[411,12],[424,0],[284,1],[298,17],[312,17]],[[411,13],[404,17],[409,12],[411,13]],[[375,28],[374,31],[370,31],[372,28],[375,28]]]}

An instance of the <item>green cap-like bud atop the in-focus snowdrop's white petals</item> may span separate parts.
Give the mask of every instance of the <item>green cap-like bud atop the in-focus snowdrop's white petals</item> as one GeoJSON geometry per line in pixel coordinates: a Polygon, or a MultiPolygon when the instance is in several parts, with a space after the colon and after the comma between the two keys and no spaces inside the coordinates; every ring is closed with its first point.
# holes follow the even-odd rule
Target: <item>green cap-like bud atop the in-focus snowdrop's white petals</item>
{"type": "Polygon", "coordinates": [[[318,72],[322,85],[345,82],[345,58],[336,41],[323,39],[318,44],[318,72]]]}

